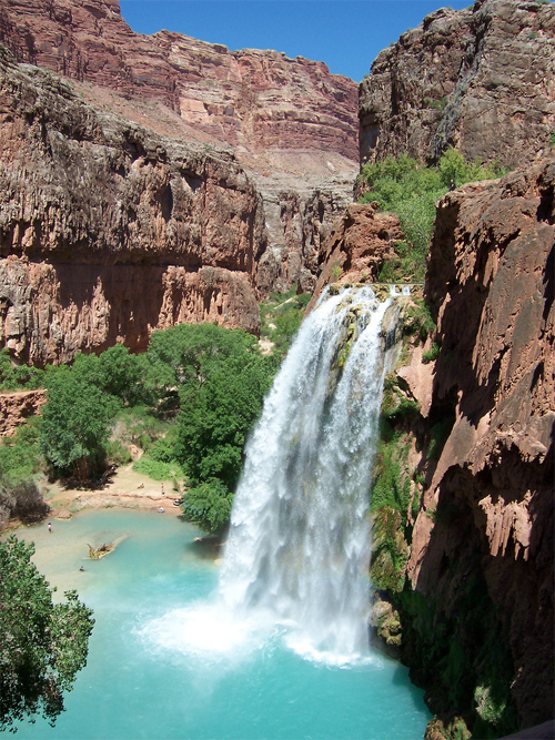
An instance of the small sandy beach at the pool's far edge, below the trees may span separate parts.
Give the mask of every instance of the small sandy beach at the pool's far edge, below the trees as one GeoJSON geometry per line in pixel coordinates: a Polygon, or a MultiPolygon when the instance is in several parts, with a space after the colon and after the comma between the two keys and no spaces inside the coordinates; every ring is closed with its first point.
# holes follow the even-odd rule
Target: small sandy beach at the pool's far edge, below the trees
{"type": "Polygon", "coordinates": [[[69,519],[82,509],[131,508],[164,509],[165,515],[179,516],[180,506],[173,501],[181,494],[173,489],[171,481],[152,480],[132,469],[132,464],[118,468],[101,488],[65,488],[59,483],[49,484],[46,500],[52,508],[51,518],[69,519]]]}

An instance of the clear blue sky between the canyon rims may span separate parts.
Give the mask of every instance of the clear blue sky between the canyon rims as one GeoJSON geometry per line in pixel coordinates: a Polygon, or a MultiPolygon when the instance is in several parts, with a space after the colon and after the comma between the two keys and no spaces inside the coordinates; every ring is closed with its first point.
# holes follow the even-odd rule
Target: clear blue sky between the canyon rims
{"type": "Polygon", "coordinates": [[[275,49],[360,82],[377,53],[433,10],[471,0],[120,0],[138,33],[178,31],[229,49],[275,49]]]}

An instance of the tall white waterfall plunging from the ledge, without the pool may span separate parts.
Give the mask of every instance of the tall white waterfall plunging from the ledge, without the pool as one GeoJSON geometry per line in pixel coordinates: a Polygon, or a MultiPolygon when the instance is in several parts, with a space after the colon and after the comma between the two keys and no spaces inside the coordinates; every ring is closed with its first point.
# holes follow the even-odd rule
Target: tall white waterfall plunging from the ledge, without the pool
{"type": "Polygon", "coordinates": [[[367,651],[367,507],[389,303],[347,288],[305,320],[248,444],[220,577],[238,619],[264,614],[289,627],[292,647],[332,660],[367,651]]]}

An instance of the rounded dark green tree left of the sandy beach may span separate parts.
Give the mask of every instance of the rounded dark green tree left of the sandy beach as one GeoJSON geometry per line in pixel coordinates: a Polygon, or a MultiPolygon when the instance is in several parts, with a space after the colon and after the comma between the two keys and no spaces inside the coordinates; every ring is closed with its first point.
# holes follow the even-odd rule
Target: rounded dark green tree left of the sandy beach
{"type": "Polygon", "coordinates": [[[94,385],[98,357],[75,358],[72,369],[50,377],[42,410],[40,445],[47,460],[84,481],[104,463],[118,401],[94,385]]]}

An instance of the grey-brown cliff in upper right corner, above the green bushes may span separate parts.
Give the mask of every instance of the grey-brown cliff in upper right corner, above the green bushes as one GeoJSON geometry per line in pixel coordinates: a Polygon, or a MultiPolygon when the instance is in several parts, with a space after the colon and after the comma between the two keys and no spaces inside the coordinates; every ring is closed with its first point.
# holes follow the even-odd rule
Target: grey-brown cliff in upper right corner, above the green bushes
{"type": "Polygon", "coordinates": [[[519,166],[555,129],[555,7],[476,0],[437,10],[382,51],[360,85],[361,159],[402,152],[519,166]]]}

